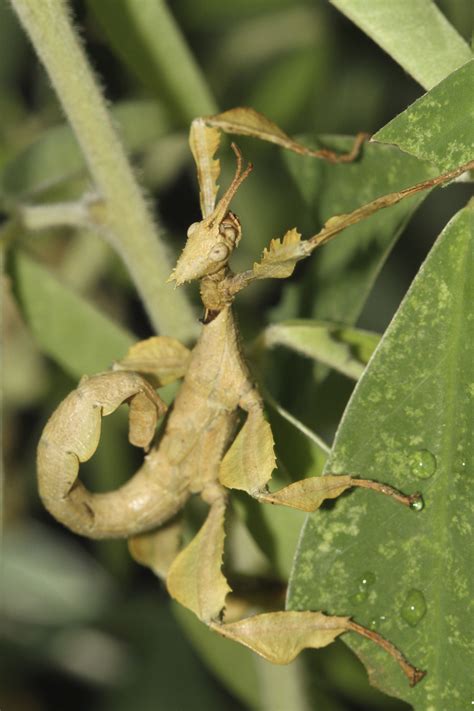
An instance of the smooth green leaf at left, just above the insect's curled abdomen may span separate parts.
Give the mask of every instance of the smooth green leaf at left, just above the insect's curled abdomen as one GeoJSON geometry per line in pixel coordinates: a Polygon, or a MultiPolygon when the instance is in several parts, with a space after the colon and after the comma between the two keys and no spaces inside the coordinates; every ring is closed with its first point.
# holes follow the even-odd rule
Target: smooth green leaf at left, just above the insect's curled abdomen
{"type": "Polygon", "coordinates": [[[24,318],[45,353],[74,378],[109,368],[134,337],[24,252],[13,262],[24,318]]]}

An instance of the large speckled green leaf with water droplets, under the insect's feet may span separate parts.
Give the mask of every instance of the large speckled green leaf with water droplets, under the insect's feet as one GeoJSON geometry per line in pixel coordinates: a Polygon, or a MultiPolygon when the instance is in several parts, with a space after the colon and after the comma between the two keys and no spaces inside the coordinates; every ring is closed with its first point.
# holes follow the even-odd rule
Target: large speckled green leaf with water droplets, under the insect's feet
{"type": "Polygon", "coordinates": [[[473,218],[471,202],[421,268],[354,391],[326,466],[420,490],[425,508],[357,492],[309,517],[288,597],[291,609],[353,615],[427,669],[409,689],[375,645],[344,636],[377,686],[420,710],[470,703],[473,218]]]}

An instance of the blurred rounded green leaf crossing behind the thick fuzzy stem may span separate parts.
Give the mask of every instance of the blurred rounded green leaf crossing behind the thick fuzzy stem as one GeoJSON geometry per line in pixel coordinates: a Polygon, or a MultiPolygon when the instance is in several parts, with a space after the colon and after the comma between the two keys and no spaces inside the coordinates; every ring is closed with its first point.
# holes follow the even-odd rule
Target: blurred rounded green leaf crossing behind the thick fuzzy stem
{"type": "MultiPolygon", "coordinates": [[[[154,101],[124,101],[112,107],[111,113],[129,153],[141,150],[168,130],[168,119],[154,101]]],[[[44,131],[6,165],[0,191],[8,196],[31,195],[73,178],[85,168],[72,129],[61,124],[44,131]]]]}

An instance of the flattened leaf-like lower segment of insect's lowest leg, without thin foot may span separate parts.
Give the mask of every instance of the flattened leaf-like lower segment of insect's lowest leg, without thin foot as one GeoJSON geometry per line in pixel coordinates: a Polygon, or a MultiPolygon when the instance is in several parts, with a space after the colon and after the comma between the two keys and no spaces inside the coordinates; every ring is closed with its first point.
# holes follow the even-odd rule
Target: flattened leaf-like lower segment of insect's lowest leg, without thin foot
{"type": "Polygon", "coordinates": [[[333,642],[347,631],[348,621],[348,617],[328,617],[322,612],[269,612],[211,627],[273,664],[289,664],[301,650],[333,642]]]}

